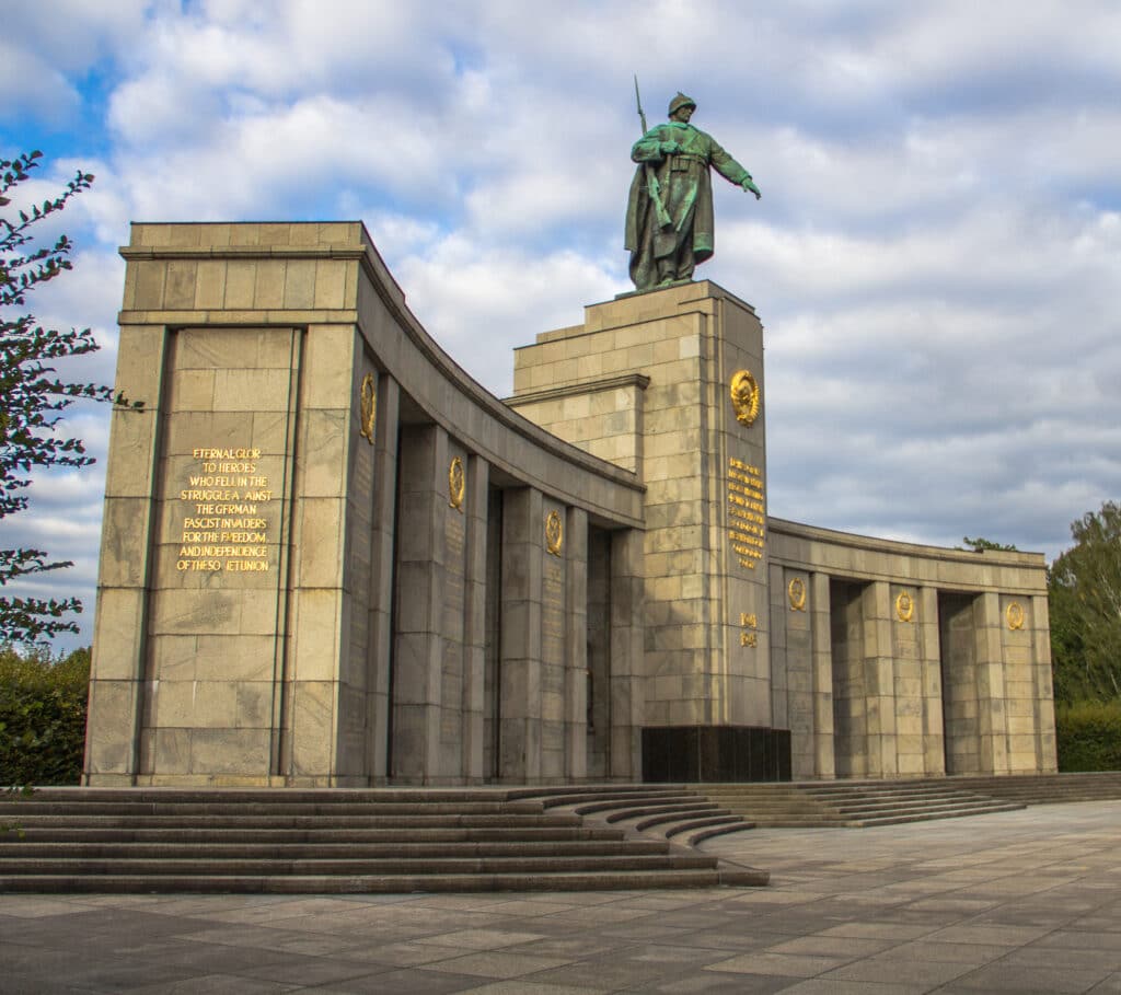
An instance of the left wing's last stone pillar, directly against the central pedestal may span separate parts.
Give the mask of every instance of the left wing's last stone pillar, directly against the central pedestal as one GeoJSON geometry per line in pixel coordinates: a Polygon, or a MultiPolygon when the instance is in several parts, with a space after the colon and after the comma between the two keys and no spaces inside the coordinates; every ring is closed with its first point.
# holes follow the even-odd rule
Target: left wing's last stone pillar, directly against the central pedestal
{"type": "Polygon", "coordinates": [[[641,778],[645,701],[642,533],[611,536],[611,757],[617,780],[641,778]]]}

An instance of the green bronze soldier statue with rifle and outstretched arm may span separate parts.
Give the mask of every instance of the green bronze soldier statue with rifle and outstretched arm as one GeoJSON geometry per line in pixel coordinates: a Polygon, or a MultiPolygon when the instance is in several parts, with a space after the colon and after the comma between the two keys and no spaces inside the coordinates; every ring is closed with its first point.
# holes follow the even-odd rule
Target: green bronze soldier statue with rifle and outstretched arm
{"type": "MultiPolygon", "coordinates": [[[[637,92],[637,82],[636,82],[637,92]]],[[[705,132],[689,123],[696,101],[678,93],[669,121],[646,131],[631,149],[638,162],[627,202],[626,248],[630,276],[639,290],[693,279],[713,252],[712,166],[725,179],[762,196],[751,174],[705,132]]]]}

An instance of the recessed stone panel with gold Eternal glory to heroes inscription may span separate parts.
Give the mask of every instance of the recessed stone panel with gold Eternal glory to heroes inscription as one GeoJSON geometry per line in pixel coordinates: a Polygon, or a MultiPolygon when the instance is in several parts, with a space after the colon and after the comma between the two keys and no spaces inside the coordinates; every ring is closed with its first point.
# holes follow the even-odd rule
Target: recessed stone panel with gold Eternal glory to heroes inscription
{"type": "Polygon", "coordinates": [[[138,773],[268,777],[303,335],[168,338],[138,773]]]}

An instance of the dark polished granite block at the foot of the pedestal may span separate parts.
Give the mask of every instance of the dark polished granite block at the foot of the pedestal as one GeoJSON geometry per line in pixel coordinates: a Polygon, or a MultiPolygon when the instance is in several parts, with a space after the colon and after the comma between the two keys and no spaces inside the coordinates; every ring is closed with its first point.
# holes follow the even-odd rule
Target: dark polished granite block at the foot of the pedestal
{"type": "Polygon", "coordinates": [[[790,731],[767,726],[642,729],[642,780],[789,781],[790,731]]]}

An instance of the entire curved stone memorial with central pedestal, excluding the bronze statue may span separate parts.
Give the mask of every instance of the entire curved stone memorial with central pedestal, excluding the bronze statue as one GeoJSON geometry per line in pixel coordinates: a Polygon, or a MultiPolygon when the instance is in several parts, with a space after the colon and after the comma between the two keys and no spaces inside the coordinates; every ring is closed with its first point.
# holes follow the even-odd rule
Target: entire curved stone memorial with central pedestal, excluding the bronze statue
{"type": "Polygon", "coordinates": [[[1043,558],[771,517],[723,288],[589,306],[503,402],[359,223],[122,254],[86,783],[1055,769],[1043,558]]]}

